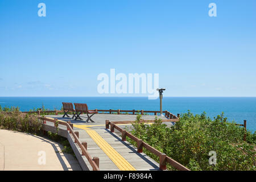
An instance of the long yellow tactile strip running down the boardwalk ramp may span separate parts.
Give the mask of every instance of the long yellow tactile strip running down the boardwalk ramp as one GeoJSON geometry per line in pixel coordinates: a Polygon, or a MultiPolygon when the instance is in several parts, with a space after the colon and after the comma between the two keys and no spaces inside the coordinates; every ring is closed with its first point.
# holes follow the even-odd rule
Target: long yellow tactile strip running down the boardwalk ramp
{"type": "Polygon", "coordinates": [[[104,140],[95,130],[90,129],[86,125],[73,126],[85,130],[86,133],[88,133],[88,135],[94,140],[94,142],[97,143],[101,150],[109,156],[109,158],[121,171],[136,171],[136,169],[131,166],[131,164],[127,162],[127,160],[123,158],[116,150],[114,150],[114,148],[110,146],[110,144],[106,142],[106,140],[104,140]]]}

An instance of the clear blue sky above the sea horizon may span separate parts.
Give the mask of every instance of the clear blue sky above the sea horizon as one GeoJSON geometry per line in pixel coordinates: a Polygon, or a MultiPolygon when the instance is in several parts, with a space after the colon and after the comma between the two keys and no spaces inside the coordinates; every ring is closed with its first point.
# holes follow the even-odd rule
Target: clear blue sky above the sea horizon
{"type": "Polygon", "coordinates": [[[164,96],[255,97],[256,1],[0,0],[0,96],[145,96],[99,94],[111,68],[159,73],[164,96]]]}

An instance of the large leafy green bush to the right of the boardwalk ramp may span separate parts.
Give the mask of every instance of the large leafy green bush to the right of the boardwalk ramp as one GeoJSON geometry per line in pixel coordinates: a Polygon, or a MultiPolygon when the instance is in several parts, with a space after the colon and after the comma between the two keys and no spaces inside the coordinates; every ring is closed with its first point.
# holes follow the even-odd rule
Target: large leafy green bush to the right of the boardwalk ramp
{"type": "MultiPolygon", "coordinates": [[[[172,127],[157,118],[152,125],[138,123],[139,119],[141,115],[133,124],[133,135],[191,170],[255,170],[256,134],[247,131],[244,142],[243,127],[228,123],[223,113],[210,119],[205,113],[193,115],[188,111],[172,127]],[[209,164],[210,151],[217,154],[216,165],[209,164]]],[[[150,152],[144,152],[159,160],[150,152]]]]}

